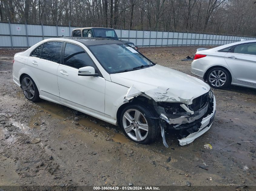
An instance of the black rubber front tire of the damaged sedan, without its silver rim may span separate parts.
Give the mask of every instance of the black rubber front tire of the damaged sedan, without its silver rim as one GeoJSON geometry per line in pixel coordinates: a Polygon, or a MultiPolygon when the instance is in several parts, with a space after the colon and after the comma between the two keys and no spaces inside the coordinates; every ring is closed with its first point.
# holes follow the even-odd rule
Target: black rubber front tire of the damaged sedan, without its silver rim
{"type": "Polygon", "coordinates": [[[158,137],[159,132],[160,132],[158,122],[157,122],[156,119],[151,119],[151,118],[148,118],[148,117],[145,117],[145,116],[144,117],[148,122],[148,135],[147,135],[147,137],[143,141],[135,141],[127,135],[127,133],[125,132],[124,126],[123,126],[123,115],[129,109],[138,110],[143,115],[146,114],[148,116],[154,116],[154,117],[156,116],[156,112],[153,110],[153,108],[151,108],[150,106],[148,106],[146,104],[144,105],[144,104],[138,103],[136,105],[131,104],[131,105],[126,106],[122,110],[121,115],[120,115],[120,119],[119,119],[119,124],[120,124],[121,129],[124,132],[125,136],[127,138],[129,138],[131,141],[134,141],[134,142],[137,142],[137,143],[140,143],[140,144],[149,144],[149,143],[155,141],[155,139],[158,137]]]}

